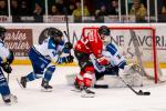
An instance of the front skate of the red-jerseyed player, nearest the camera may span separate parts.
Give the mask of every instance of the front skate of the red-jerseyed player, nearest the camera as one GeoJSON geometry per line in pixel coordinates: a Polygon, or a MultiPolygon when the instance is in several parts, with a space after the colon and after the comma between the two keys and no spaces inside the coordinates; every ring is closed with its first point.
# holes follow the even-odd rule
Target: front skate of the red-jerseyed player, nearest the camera
{"type": "Polygon", "coordinates": [[[94,98],[95,92],[91,91],[90,88],[83,87],[81,91],[81,97],[82,98],[94,98]]]}

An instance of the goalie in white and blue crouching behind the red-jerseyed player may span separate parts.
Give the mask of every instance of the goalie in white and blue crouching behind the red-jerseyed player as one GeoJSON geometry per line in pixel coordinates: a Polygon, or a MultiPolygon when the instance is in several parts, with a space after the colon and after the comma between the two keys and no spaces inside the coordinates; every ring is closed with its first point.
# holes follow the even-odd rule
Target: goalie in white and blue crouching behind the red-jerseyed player
{"type": "Polygon", "coordinates": [[[98,80],[104,74],[132,74],[136,72],[136,64],[127,64],[126,59],[118,52],[117,48],[113,43],[107,43],[110,40],[105,41],[106,47],[103,51],[103,56],[110,61],[108,65],[98,65],[94,59],[92,59],[95,65],[95,77],[98,80]],[[120,73],[120,70],[122,73],[120,73]]]}

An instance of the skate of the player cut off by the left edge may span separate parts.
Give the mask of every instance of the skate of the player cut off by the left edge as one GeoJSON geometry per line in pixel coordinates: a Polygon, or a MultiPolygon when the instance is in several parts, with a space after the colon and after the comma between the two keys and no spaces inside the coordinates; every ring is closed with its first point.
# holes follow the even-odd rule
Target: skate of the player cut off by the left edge
{"type": "Polygon", "coordinates": [[[4,101],[7,105],[11,105],[18,102],[18,98],[13,94],[4,95],[2,97],[2,100],[4,101]]]}

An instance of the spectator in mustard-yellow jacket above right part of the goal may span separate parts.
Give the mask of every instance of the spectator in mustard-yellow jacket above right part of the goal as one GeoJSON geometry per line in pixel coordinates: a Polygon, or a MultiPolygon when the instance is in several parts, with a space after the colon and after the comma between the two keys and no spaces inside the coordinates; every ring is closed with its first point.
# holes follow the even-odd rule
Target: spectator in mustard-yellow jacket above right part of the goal
{"type": "Polygon", "coordinates": [[[143,22],[145,21],[147,11],[144,4],[139,2],[139,0],[134,0],[132,9],[129,10],[129,14],[135,16],[137,22],[143,22]]]}

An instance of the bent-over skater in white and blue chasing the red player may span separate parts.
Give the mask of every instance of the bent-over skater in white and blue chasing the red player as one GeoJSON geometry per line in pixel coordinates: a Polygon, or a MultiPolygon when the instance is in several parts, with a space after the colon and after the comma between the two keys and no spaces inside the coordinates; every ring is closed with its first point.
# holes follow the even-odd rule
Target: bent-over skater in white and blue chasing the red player
{"type": "Polygon", "coordinates": [[[62,52],[69,53],[72,49],[72,44],[64,43],[63,33],[59,29],[51,31],[51,36],[44,40],[41,44],[33,46],[30,49],[29,58],[31,60],[33,71],[25,77],[21,77],[21,85],[27,88],[27,82],[42,78],[41,87],[44,91],[52,91],[52,87],[49,81],[55,71],[54,63],[69,63],[73,62],[73,56],[60,57],[62,52]]]}

